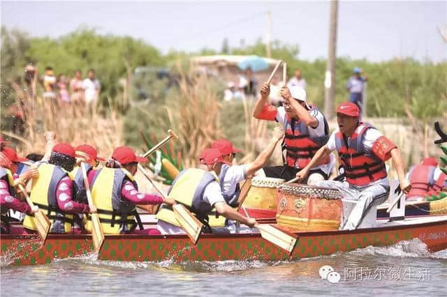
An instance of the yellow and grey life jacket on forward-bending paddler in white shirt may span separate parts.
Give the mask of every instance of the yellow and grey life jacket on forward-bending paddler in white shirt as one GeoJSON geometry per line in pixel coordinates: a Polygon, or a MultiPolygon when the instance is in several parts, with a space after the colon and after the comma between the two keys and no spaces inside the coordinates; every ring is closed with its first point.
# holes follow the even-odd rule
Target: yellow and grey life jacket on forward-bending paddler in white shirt
{"type": "MultiPolygon", "coordinates": [[[[217,176],[203,169],[185,169],[173,181],[173,185],[170,186],[168,191],[168,197],[189,208],[198,220],[208,225],[207,215],[212,210],[212,206],[203,201],[203,193],[207,185],[218,180],[217,176]]],[[[181,227],[170,206],[161,206],[156,218],[181,227]]]]}

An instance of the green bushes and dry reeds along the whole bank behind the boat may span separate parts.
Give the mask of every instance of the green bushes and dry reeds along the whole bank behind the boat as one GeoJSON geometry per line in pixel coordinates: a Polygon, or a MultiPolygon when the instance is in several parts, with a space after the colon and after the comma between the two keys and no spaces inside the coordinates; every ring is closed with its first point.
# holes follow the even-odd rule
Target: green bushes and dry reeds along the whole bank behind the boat
{"type": "MultiPolygon", "coordinates": [[[[196,53],[159,50],[129,36],[99,35],[93,29],[78,29],[60,38],[36,38],[15,29],[1,28],[1,132],[13,140],[20,152],[43,151],[43,132],[51,129],[58,141],[78,145],[88,142],[108,157],[115,146],[129,144],[138,151],[145,148],[140,130],[147,135],[164,137],[173,128],[179,140],[185,167],[196,164],[198,151],[213,139],[227,137],[242,148],[239,162],[253,160],[270,137],[274,123],[251,117],[251,101],[223,102],[226,85],[214,77],[198,76],[189,67],[189,57],[204,54],[256,54],[265,56],[265,45],[258,40],[244,48],[196,53]],[[33,63],[39,76],[45,66],[55,73],[72,75],[96,70],[101,80],[101,96],[94,110],[77,105],[64,108],[42,99],[38,86],[36,98],[24,90],[24,67],[33,63]],[[140,66],[169,68],[178,84],[157,96],[139,100],[133,86],[133,71],[140,66]],[[22,103],[21,103],[22,102],[22,103]],[[24,130],[13,127],[10,107],[22,108],[24,130]]],[[[286,61],[288,77],[302,70],[307,80],[309,101],[323,108],[325,60],[302,61],[298,45],[275,41],[272,57],[286,61]]],[[[372,63],[366,59],[337,59],[335,103],[348,100],[346,80],[354,66],[369,76],[367,121],[376,125],[403,151],[406,169],[425,155],[439,152],[433,144],[433,122],[447,123],[447,61],[423,63],[410,58],[372,63]]],[[[260,84],[262,82],[259,82],[260,84]]],[[[330,121],[331,129],[336,127],[330,121]]],[[[279,148],[272,163],[280,164],[279,148]]]]}

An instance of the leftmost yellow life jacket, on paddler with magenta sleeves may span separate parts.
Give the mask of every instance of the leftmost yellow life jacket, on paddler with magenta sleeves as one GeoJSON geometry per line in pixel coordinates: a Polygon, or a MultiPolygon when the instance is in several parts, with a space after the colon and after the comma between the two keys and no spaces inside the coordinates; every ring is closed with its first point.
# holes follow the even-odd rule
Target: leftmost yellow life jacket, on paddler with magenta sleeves
{"type": "MultiPolygon", "coordinates": [[[[31,188],[31,201],[36,206],[47,211],[47,217],[50,219],[52,233],[71,233],[75,223],[73,214],[65,213],[57,205],[56,190],[57,184],[62,178],[71,174],[63,168],[48,163],[38,165],[39,176],[33,178],[31,188]]],[[[74,197],[74,185],[71,197],[74,197]]],[[[37,230],[34,222],[34,215],[26,215],[23,221],[23,227],[31,230],[37,230]]]]}

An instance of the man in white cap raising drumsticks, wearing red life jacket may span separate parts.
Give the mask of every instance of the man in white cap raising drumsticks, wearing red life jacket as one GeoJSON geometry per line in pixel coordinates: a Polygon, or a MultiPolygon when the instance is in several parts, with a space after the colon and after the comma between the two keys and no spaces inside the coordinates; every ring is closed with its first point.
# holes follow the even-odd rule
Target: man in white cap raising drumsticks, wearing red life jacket
{"type": "MultiPolygon", "coordinates": [[[[300,169],[309,164],[318,148],[329,139],[329,126],[323,114],[309,106],[306,101],[306,91],[300,86],[283,86],[281,96],[284,107],[274,107],[267,103],[270,86],[261,86],[261,98],[254,106],[253,116],[256,119],[277,121],[284,127],[285,137],[283,150],[286,151],[284,166],[264,167],[263,175],[272,178],[295,178],[300,169]]],[[[335,160],[335,158],[333,158],[335,160]]],[[[303,183],[313,184],[328,179],[333,165],[330,155],[312,167],[309,177],[303,183]]]]}

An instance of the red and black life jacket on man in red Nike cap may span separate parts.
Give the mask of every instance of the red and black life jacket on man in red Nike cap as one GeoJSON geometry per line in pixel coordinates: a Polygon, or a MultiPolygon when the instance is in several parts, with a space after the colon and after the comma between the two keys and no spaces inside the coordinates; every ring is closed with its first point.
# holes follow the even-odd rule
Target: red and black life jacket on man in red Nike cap
{"type": "Polygon", "coordinates": [[[335,135],[339,164],[344,168],[346,181],[351,185],[368,185],[387,176],[385,162],[374,153],[365,151],[363,139],[370,128],[374,127],[360,123],[350,139],[344,139],[340,131],[335,135]]]}

